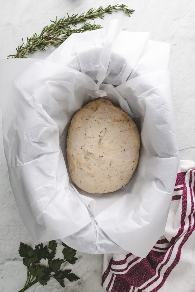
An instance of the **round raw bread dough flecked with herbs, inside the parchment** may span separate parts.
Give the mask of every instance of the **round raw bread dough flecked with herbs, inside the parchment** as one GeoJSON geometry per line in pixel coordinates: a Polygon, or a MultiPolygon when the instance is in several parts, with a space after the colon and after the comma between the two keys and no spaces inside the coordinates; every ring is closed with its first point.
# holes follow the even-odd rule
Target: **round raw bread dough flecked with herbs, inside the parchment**
{"type": "Polygon", "coordinates": [[[119,190],[136,169],[139,147],[139,131],[127,113],[103,98],[89,102],[74,115],[68,130],[70,176],[88,193],[119,190]]]}

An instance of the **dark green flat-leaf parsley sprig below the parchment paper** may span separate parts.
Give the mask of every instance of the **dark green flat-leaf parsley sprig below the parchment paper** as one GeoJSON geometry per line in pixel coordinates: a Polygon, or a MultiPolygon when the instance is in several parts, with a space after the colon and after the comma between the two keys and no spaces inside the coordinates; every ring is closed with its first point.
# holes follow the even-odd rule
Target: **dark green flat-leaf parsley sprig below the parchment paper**
{"type": "Polygon", "coordinates": [[[23,287],[18,292],[24,292],[32,285],[39,282],[41,285],[47,285],[49,279],[56,279],[62,287],[65,287],[64,279],[69,281],[76,281],[80,279],[77,275],[71,273],[71,270],[61,269],[61,265],[65,262],[75,264],[77,258],[75,257],[75,249],[62,243],[64,249],[63,259],[54,259],[56,255],[57,243],[55,240],[49,241],[49,245],[44,246],[42,243],[31,246],[20,242],[18,250],[19,255],[23,258],[23,264],[27,267],[27,280],[23,287]],[[46,260],[46,265],[40,265],[40,261],[46,260]]]}

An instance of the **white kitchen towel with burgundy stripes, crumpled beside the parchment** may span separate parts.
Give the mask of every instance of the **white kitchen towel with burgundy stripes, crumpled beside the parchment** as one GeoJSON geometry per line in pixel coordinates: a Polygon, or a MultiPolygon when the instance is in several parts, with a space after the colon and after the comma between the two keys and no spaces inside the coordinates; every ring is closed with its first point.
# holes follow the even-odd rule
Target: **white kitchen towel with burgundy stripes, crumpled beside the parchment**
{"type": "Polygon", "coordinates": [[[106,291],[195,292],[194,179],[194,162],[180,161],[165,234],[146,258],[132,253],[104,255],[106,291]]]}

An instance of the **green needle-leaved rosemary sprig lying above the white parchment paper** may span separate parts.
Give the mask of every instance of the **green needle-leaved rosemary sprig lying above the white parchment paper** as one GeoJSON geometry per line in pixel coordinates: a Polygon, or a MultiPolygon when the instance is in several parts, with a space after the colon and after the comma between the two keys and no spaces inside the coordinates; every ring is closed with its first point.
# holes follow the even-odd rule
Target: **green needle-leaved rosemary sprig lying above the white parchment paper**
{"type": "Polygon", "coordinates": [[[65,41],[71,34],[77,32],[85,32],[87,30],[94,30],[101,28],[101,25],[99,24],[91,24],[89,22],[86,23],[87,20],[94,20],[95,18],[101,18],[103,19],[105,17],[105,14],[112,14],[113,11],[116,10],[122,10],[124,13],[126,13],[128,16],[131,16],[134,10],[128,9],[128,7],[125,4],[117,4],[114,6],[108,5],[106,8],[103,8],[100,6],[98,9],[90,8],[89,11],[87,11],[86,14],[73,14],[72,16],[69,16],[65,18],[61,18],[59,20],[53,21],[51,25],[46,25],[40,34],[35,33],[30,38],[27,37],[26,43],[18,46],[16,48],[16,53],[13,55],[8,55],[8,57],[12,58],[27,58],[27,55],[33,54],[37,50],[44,50],[45,47],[49,46],[59,46],[65,41]],[[80,22],[84,22],[84,24],[77,28],[76,25],[80,22]]]}

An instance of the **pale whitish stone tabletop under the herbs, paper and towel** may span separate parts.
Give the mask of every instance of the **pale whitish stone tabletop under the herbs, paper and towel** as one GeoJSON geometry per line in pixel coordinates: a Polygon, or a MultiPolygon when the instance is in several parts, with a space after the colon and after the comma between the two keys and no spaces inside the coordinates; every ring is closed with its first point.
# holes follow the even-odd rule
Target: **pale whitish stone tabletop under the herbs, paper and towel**
{"type": "MultiPolygon", "coordinates": [[[[15,53],[15,47],[35,32],[49,24],[55,17],[62,18],[65,13],[82,13],[90,7],[117,4],[117,1],[101,0],[7,0],[1,3],[0,18],[0,58],[15,53]]],[[[106,15],[96,23],[104,26],[109,20],[119,18],[122,29],[130,31],[149,31],[151,39],[166,41],[171,45],[169,69],[173,72],[173,102],[177,124],[177,137],[180,159],[195,161],[195,98],[194,98],[194,6],[181,0],[132,0],[126,1],[135,9],[131,18],[122,11],[106,15]]],[[[45,58],[49,52],[39,54],[45,58]]],[[[33,56],[34,57],[34,56],[33,56]]],[[[1,116],[1,111],[0,111],[1,116]]],[[[17,292],[26,279],[26,268],[18,255],[20,241],[34,245],[18,212],[9,183],[2,141],[2,121],[0,117],[0,290],[17,292]]],[[[59,248],[60,256],[60,248],[59,248]]],[[[62,288],[55,280],[47,286],[36,284],[29,292],[101,292],[102,255],[77,252],[78,261],[72,266],[75,274],[81,278],[76,282],[66,281],[62,288]]],[[[70,266],[70,265],[69,265],[70,266]]],[[[68,267],[69,267],[68,266],[68,267]]]]}

